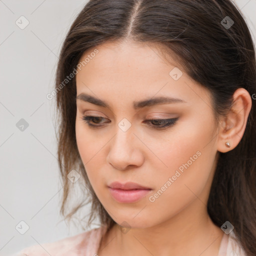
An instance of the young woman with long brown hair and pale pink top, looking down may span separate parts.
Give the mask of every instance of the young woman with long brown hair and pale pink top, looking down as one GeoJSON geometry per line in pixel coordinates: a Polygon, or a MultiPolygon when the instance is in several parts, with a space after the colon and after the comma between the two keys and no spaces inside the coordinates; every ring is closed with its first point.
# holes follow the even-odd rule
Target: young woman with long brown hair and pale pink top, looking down
{"type": "Polygon", "coordinates": [[[230,0],[90,0],[52,95],[100,226],[18,255],[256,255],[255,70],[230,0]]]}

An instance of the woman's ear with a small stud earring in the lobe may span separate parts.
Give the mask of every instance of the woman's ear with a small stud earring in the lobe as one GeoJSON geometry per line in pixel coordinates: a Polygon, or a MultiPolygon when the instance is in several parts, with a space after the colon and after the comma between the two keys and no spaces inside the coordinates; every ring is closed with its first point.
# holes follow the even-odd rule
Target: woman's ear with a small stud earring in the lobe
{"type": "Polygon", "coordinates": [[[232,150],[240,142],[251,109],[249,92],[244,88],[238,88],[233,93],[233,104],[229,112],[220,121],[217,150],[227,152],[232,150]],[[230,147],[226,146],[229,142],[230,147]]]}

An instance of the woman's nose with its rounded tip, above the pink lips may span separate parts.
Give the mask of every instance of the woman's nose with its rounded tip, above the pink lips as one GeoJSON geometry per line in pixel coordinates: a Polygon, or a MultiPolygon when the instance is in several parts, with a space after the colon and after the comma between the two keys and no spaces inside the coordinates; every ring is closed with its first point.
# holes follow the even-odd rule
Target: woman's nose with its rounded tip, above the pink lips
{"type": "Polygon", "coordinates": [[[119,170],[138,167],[144,160],[142,146],[143,143],[131,129],[122,131],[118,128],[110,141],[107,162],[119,170]]]}

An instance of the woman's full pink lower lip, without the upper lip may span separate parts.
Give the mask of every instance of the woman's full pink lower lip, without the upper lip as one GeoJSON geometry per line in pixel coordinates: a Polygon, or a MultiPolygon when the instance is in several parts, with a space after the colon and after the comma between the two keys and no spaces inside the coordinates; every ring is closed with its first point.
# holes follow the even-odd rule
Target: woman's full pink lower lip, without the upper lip
{"type": "Polygon", "coordinates": [[[113,198],[118,202],[135,202],[143,198],[152,189],[114,189],[108,187],[113,198]]]}

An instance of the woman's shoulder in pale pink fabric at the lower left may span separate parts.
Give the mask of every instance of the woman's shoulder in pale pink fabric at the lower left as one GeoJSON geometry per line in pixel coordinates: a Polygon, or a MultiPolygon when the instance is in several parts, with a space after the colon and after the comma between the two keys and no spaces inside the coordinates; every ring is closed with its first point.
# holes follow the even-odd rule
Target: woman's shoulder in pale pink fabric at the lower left
{"type": "Polygon", "coordinates": [[[25,247],[10,256],[91,256],[97,253],[100,239],[105,230],[105,226],[93,228],[55,242],[25,247]]]}

